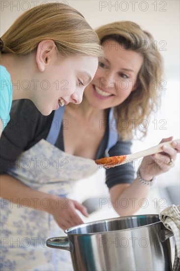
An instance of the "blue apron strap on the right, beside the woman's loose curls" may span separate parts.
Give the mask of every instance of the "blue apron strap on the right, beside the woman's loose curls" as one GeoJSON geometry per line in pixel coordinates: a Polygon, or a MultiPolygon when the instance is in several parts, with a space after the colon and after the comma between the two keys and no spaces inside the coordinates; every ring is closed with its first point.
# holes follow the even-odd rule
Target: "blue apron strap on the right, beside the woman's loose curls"
{"type": "Polygon", "coordinates": [[[116,119],[113,115],[114,108],[110,109],[109,112],[109,137],[108,137],[108,144],[106,148],[106,155],[108,156],[108,151],[117,143],[118,141],[118,127],[116,119]]]}

